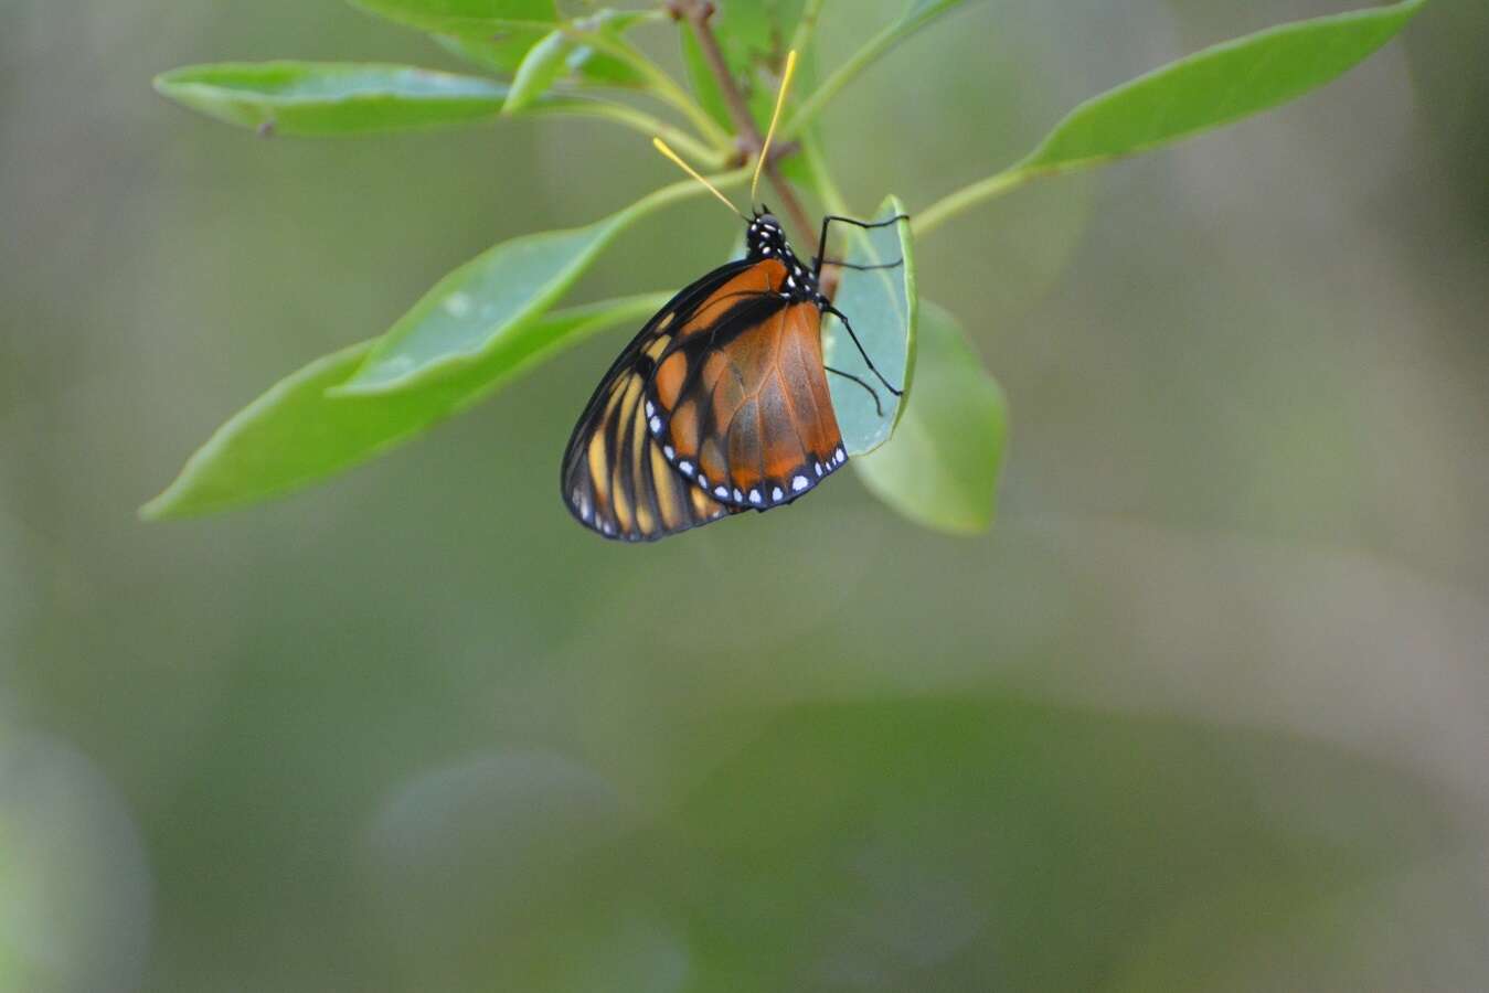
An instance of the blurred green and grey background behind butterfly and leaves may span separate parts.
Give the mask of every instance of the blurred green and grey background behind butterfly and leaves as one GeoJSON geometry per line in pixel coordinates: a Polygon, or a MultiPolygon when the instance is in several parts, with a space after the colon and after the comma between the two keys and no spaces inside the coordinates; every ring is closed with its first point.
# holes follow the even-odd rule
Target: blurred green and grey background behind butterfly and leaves
{"type": "MultiPolygon", "coordinates": [[[[974,1],[829,153],[914,210],[1345,6],[974,1]]],[[[828,4],[825,63],[898,7],[828,4]]],[[[989,536],[849,473],[627,548],[554,485],[622,329],[329,485],[134,512],[493,241],[673,182],[643,141],[258,140],[150,76],[454,63],[332,0],[0,0],[0,989],[1489,987],[1486,51],[1437,0],[925,241],[1013,402],[989,536]]],[[[672,208],[576,299],[734,237],[672,208]]]]}

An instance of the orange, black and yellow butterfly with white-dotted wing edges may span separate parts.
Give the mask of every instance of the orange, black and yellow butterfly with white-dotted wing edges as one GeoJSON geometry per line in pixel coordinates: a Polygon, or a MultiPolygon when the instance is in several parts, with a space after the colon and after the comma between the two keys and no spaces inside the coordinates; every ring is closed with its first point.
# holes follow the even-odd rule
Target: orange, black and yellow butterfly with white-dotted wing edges
{"type": "Polygon", "coordinates": [[[585,527],[655,540],[791,503],[847,462],[822,360],[831,302],[768,213],[746,243],[669,301],[590,397],[561,479],[585,527]]]}

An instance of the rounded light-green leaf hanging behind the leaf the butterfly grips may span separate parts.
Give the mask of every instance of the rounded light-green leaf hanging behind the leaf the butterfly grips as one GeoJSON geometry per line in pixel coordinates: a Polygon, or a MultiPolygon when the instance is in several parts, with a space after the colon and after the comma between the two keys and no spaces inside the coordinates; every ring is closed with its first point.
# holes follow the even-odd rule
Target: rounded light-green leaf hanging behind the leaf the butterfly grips
{"type": "Polygon", "coordinates": [[[998,381],[956,319],[926,302],[914,397],[889,444],[853,466],[874,496],[911,521],[971,534],[992,524],[1007,430],[998,381]]]}

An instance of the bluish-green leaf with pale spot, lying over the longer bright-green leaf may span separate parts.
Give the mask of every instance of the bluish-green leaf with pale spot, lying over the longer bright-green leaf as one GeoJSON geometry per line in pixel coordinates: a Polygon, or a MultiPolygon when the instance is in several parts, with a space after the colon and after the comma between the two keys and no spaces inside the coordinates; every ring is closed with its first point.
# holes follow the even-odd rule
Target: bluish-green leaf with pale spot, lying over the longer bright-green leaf
{"type": "MultiPolygon", "coordinates": [[[[743,170],[721,177],[728,186],[743,170]]],[[[362,368],[338,392],[405,390],[502,348],[523,322],[552,307],[625,228],[667,204],[697,197],[692,180],[664,186],[625,210],[584,228],[503,241],[441,280],[378,339],[362,368]]]]}

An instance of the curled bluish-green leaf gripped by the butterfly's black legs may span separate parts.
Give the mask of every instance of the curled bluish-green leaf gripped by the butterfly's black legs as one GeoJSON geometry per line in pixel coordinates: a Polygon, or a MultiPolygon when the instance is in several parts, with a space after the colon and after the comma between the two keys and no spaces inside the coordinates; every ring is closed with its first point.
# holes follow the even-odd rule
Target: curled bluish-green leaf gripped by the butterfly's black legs
{"type": "MultiPolygon", "coordinates": [[[[895,197],[887,197],[874,214],[876,220],[887,220],[902,214],[904,207],[895,197]]],[[[904,259],[904,265],[890,269],[859,272],[841,269],[843,278],[834,305],[847,314],[864,351],[889,383],[907,395],[914,372],[916,316],[916,258],[910,225],[896,223],[887,228],[862,231],[835,223],[828,235],[828,258],[855,265],[883,265],[904,259]]],[[[883,445],[895,430],[904,406],[883,383],[870,371],[864,354],[853,344],[837,317],[825,317],[822,326],[822,353],[834,369],[850,372],[864,380],[877,395],[840,375],[828,375],[832,390],[832,409],[843,430],[843,447],[850,456],[862,456],[883,445]]]]}

